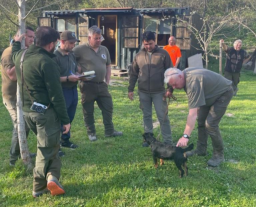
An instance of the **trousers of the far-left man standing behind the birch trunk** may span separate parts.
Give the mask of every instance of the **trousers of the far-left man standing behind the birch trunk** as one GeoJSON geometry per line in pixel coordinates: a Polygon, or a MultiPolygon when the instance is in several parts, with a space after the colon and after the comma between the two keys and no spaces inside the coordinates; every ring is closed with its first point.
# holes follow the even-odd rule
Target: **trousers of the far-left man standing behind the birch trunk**
{"type": "MultiPolygon", "coordinates": [[[[17,106],[16,100],[10,100],[3,97],[3,103],[10,113],[12,118],[13,130],[12,130],[12,143],[10,149],[10,163],[14,164],[20,155],[20,144],[18,138],[18,124],[17,124],[17,106]]],[[[26,135],[28,137],[29,127],[25,121],[26,135]]]]}

